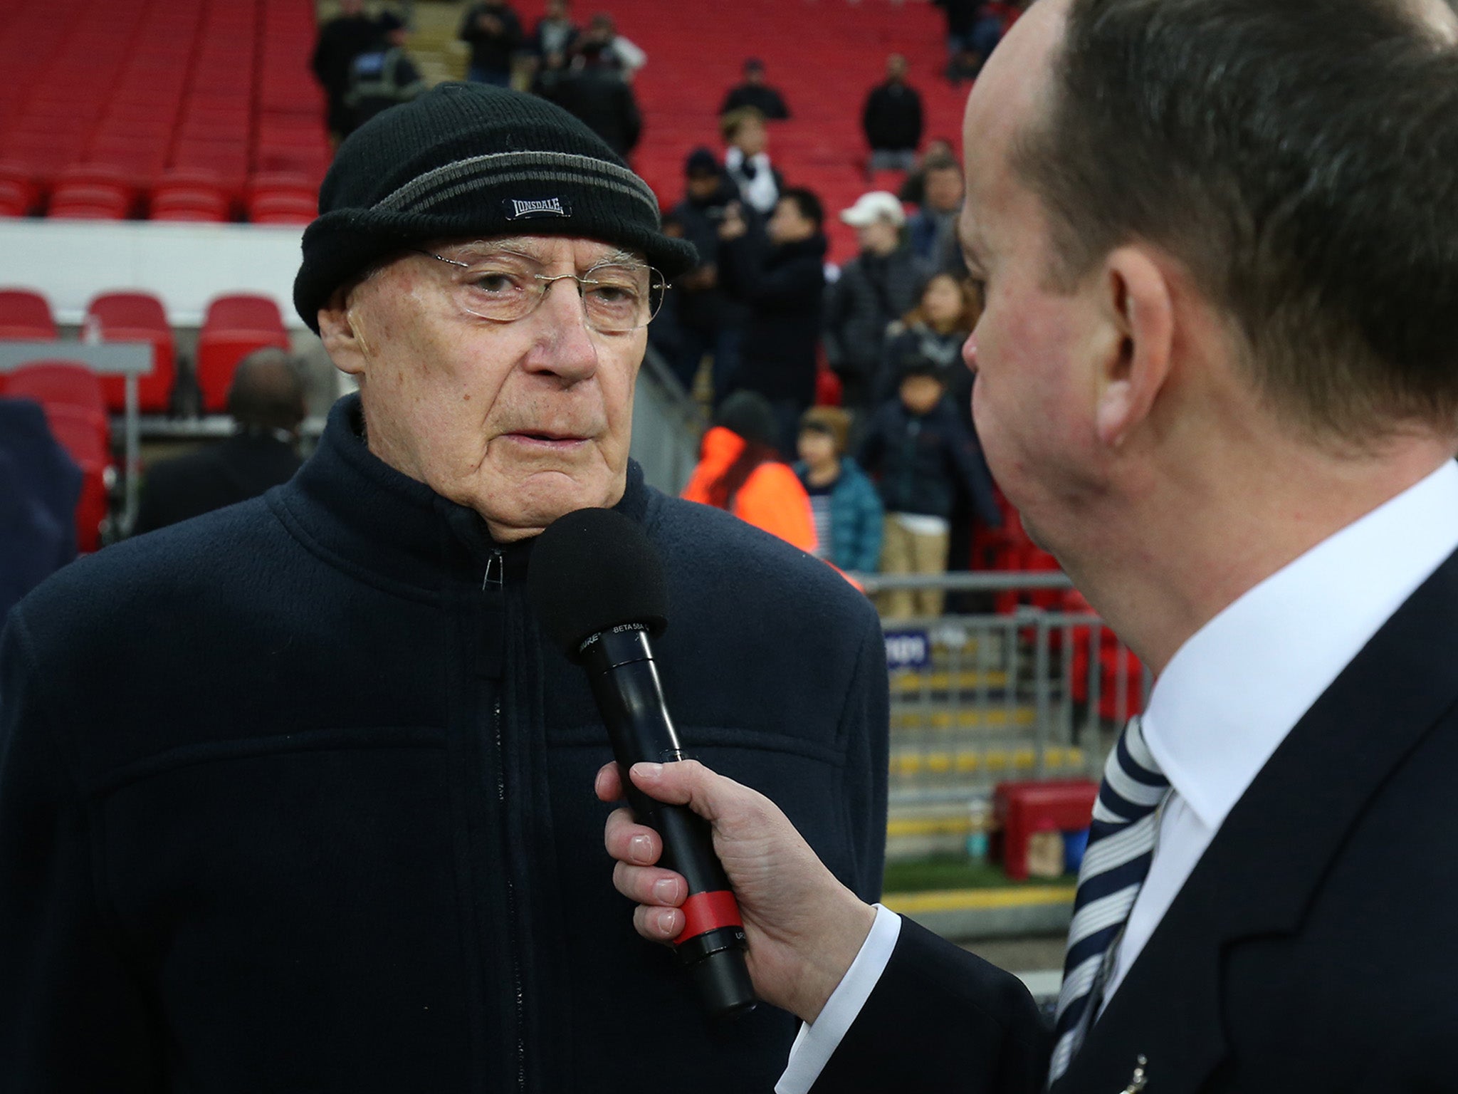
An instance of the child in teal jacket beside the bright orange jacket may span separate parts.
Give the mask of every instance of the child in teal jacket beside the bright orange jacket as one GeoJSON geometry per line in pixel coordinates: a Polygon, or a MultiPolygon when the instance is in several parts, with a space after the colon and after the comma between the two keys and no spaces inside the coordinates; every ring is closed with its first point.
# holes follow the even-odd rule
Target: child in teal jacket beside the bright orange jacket
{"type": "Polygon", "coordinates": [[[881,566],[885,511],[875,484],[846,454],[850,416],[840,407],[811,407],[800,417],[800,461],[795,465],[815,516],[815,557],[850,573],[881,566]]]}

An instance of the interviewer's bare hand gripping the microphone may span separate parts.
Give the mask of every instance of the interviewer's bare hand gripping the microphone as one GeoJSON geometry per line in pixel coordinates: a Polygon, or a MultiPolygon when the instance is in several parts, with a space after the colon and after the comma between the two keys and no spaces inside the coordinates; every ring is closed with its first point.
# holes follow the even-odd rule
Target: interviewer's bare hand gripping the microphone
{"type": "MultiPolygon", "coordinates": [[[[658,801],[688,805],[713,827],[749,939],[749,976],[760,998],[815,1021],[870,934],[876,910],[841,885],[763,794],[714,775],[695,760],[634,764],[634,785],[658,801]]],[[[620,801],[618,766],[598,772],[598,798],[620,801]]],[[[653,942],[684,929],[688,884],[655,865],[663,842],[628,810],[608,817],[605,843],[617,859],[612,884],[636,900],[633,925],[653,942]]]]}

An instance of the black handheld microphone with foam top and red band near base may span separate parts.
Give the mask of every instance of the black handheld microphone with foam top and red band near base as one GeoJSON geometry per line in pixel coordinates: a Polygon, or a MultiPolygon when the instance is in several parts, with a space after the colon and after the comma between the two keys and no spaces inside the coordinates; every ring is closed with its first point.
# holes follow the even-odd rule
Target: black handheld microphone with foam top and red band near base
{"type": "Polygon", "coordinates": [[[636,521],[611,509],[579,509],[538,537],[526,588],[547,635],[588,672],[634,815],[663,837],[663,865],[688,881],[687,922],[674,941],[679,963],[712,1015],[752,1009],[744,920],[709,824],[684,805],[649,798],[628,779],[636,763],[685,759],[650,643],[668,626],[658,551],[636,521]]]}

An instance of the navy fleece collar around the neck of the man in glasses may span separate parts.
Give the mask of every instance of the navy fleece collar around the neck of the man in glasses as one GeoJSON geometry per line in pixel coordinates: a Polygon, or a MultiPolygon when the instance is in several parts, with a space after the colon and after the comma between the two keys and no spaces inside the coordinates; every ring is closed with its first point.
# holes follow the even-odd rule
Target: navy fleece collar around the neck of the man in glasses
{"type": "MultiPolygon", "coordinates": [[[[614,508],[642,521],[647,499],[643,470],[628,461],[627,489],[614,508]]],[[[497,544],[474,509],[370,452],[357,394],[334,404],[318,449],[271,500],[290,531],[325,560],[416,589],[484,575],[497,559],[506,578],[525,576],[531,554],[531,540],[497,544]]]]}

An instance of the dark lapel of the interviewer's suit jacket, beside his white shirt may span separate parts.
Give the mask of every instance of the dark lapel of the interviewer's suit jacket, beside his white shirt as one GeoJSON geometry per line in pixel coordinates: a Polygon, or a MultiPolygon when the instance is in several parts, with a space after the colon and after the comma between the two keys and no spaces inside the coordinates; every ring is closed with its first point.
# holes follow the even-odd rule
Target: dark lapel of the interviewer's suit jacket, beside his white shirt
{"type": "Polygon", "coordinates": [[[1352,826],[1455,702],[1458,554],[1382,626],[1255,776],[1054,1094],[1118,1094],[1139,1056],[1149,1060],[1147,1094],[1198,1090],[1228,1052],[1223,951],[1299,929],[1352,826]]]}

